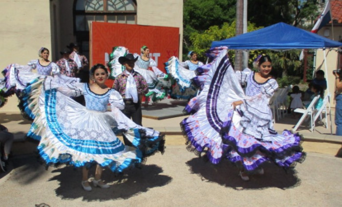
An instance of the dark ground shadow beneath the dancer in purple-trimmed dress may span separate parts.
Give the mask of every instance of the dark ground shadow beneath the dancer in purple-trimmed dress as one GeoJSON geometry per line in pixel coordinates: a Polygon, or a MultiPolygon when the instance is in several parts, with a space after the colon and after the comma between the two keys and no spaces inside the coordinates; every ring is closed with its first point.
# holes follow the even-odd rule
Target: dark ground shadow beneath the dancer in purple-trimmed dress
{"type": "Polygon", "coordinates": [[[193,158],[186,162],[190,166],[190,171],[201,177],[203,181],[214,182],[222,186],[241,189],[264,189],[277,187],[286,189],[300,185],[300,180],[296,176],[295,170],[289,169],[287,172],[271,163],[263,165],[264,175],[250,175],[248,182],[243,181],[238,176],[238,169],[233,164],[221,162],[213,165],[206,162],[204,158],[193,158]]]}

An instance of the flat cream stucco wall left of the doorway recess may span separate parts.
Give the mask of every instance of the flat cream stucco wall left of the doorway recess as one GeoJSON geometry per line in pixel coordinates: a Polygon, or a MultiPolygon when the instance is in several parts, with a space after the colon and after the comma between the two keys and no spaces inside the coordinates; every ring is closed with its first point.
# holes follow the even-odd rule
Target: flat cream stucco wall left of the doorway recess
{"type": "MultiPolygon", "coordinates": [[[[48,0],[1,0],[0,14],[0,70],[10,63],[27,64],[39,58],[41,47],[51,48],[48,0]]],[[[14,95],[0,110],[19,111],[17,105],[14,95]]]]}

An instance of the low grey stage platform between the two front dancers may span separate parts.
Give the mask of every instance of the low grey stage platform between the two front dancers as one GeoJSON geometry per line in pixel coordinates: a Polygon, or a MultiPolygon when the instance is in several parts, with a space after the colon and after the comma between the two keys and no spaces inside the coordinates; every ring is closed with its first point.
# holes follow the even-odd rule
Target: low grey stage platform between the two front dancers
{"type": "Polygon", "coordinates": [[[143,117],[148,119],[169,119],[184,116],[183,109],[187,101],[164,99],[152,105],[142,104],[143,117]]]}

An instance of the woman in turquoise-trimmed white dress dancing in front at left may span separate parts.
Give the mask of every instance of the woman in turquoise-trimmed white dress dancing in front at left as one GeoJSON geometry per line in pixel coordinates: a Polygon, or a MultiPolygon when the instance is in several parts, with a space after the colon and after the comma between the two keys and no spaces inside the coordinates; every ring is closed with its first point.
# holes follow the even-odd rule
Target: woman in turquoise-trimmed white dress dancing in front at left
{"type": "Polygon", "coordinates": [[[60,84],[58,77],[47,77],[39,97],[40,111],[27,133],[40,140],[38,150],[47,165],[83,167],[82,186],[87,191],[91,190],[91,164],[97,164],[93,185],[107,188],[101,180],[102,167],[120,173],[158,150],[164,152],[165,142],[164,135],[133,123],[120,111],[125,104],[116,90],[106,86],[104,65],[94,65],[91,78],[93,84],[60,84]],[[70,98],[80,95],[85,96],[85,106],[70,98]],[[125,146],[116,132],[124,133],[133,147],[125,146]]]}

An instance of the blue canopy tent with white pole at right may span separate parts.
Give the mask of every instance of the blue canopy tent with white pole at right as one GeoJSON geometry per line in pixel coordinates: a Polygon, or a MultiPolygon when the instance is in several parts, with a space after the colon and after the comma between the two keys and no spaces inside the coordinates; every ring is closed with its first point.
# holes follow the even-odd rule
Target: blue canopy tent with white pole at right
{"type": "MultiPolygon", "coordinates": [[[[323,49],[325,73],[327,73],[325,48],[342,47],[342,43],[332,41],[321,37],[317,34],[305,31],[303,29],[280,22],[271,26],[248,32],[222,41],[213,41],[212,47],[227,46],[229,49],[235,50],[290,50],[290,49],[323,49]]],[[[327,91],[329,91],[327,84],[327,91]]],[[[330,129],[331,110],[330,110],[330,93],[329,96],[329,115],[330,129]]]]}

